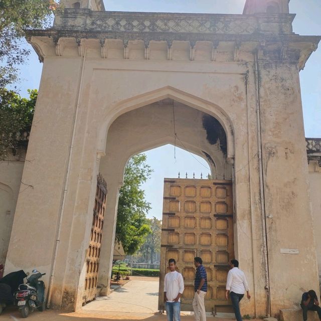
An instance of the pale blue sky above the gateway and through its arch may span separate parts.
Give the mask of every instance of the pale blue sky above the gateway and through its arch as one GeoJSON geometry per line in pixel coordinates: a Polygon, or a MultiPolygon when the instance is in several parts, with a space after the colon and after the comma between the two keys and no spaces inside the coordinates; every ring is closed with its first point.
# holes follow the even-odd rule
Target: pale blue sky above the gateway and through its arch
{"type": "MultiPolygon", "coordinates": [[[[245,0],[104,0],[109,11],[139,12],[188,12],[241,14],[245,0]]],[[[321,35],[321,0],[291,0],[290,13],[295,13],[293,31],[300,35],[321,35]]],[[[321,47],[321,45],[319,45],[321,47]]],[[[32,54],[27,65],[23,66],[23,81],[18,84],[22,96],[28,88],[38,88],[42,64],[36,54],[32,54]]],[[[321,48],[309,58],[300,72],[301,94],[306,137],[321,137],[321,48]]],[[[151,179],[144,185],[147,201],[152,205],[149,216],[162,218],[164,177],[177,177],[178,172],[207,174],[207,163],[200,157],[166,145],[146,152],[147,162],[154,170],[151,179]],[[203,165],[201,165],[201,162],[203,165]]]]}

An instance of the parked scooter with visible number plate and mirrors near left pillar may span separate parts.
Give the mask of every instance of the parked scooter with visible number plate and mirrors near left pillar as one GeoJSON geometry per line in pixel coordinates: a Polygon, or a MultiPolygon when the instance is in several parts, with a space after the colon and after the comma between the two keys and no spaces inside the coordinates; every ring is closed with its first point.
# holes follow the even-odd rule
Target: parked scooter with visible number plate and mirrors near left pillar
{"type": "Polygon", "coordinates": [[[37,270],[32,271],[27,278],[27,283],[20,284],[18,291],[15,292],[15,304],[22,317],[27,317],[30,311],[38,309],[44,311],[46,308],[45,301],[45,283],[39,280],[46,273],[40,273],[37,270]]]}

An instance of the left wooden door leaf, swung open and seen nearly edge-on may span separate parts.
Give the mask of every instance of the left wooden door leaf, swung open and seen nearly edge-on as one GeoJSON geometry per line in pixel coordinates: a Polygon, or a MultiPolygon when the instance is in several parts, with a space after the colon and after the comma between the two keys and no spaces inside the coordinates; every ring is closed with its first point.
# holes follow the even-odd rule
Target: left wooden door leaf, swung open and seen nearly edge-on
{"type": "Polygon", "coordinates": [[[86,278],[83,302],[91,301],[96,297],[97,278],[99,270],[100,245],[106,208],[107,185],[103,177],[97,176],[95,205],[92,218],[89,247],[86,253],[86,278]]]}

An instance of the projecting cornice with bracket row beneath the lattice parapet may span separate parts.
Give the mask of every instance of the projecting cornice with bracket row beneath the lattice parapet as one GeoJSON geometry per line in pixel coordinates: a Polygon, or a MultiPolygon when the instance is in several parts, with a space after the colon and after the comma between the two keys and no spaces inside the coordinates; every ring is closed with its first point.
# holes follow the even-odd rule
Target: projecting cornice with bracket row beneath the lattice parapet
{"type": "MultiPolygon", "coordinates": [[[[195,60],[197,50],[209,51],[209,61],[222,61],[220,53],[228,53],[224,58],[226,62],[253,62],[255,54],[261,63],[290,63],[297,64],[299,69],[303,69],[306,60],[321,39],[318,36],[299,36],[296,34],[196,34],[196,33],[159,33],[159,32],[101,32],[101,31],[81,31],[74,29],[49,29],[49,30],[30,30],[26,31],[27,40],[32,44],[38,53],[40,60],[46,56],[65,56],[66,48],[77,48],[68,51],[69,57],[79,56],[79,45],[81,49],[87,47],[99,51],[96,58],[100,56],[108,59],[108,48],[112,49],[112,41],[118,41],[119,46],[123,46],[124,59],[128,59],[128,43],[141,42],[143,56],[149,60],[150,43],[166,42],[164,50],[168,60],[172,60],[173,50],[178,43],[189,43],[190,47],[187,60],[195,60]],[[119,43],[120,41],[120,43],[119,43]],[[206,49],[205,49],[206,47],[206,49]]],[[[128,49],[129,48],[129,49],[128,49]]],[[[81,56],[81,55],[80,55],[81,56]]],[[[197,60],[197,59],[196,59],[197,60]]]]}

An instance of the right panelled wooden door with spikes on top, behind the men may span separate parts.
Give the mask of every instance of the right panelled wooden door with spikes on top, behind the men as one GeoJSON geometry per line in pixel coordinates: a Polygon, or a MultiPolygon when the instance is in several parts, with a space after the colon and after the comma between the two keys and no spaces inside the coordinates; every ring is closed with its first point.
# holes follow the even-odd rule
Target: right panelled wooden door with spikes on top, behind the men
{"type": "Polygon", "coordinates": [[[164,309],[168,260],[175,258],[185,284],[181,310],[193,311],[196,256],[202,258],[207,271],[206,310],[230,312],[225,285],[228,262],[234,258],[232,182],[165,179],[159,309],[164,309]]]}

